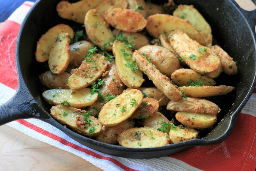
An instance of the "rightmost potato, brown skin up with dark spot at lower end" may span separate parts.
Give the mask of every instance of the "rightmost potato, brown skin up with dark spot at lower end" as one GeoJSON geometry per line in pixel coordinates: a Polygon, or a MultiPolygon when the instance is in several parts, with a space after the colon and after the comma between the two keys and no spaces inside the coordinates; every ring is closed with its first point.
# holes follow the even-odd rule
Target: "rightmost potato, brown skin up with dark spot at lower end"
{"type": "Polygon", "coordinates": [[[232,57],[218,45],[211,46],[211,49],[219,57],[223,72],[228,75],[237,74],[237,66],[232,57]]]}

